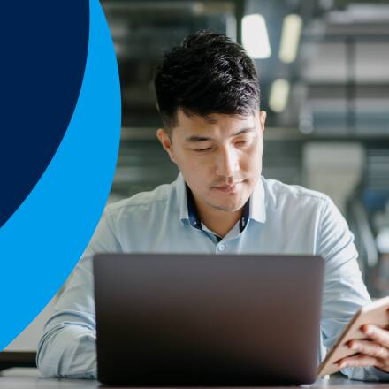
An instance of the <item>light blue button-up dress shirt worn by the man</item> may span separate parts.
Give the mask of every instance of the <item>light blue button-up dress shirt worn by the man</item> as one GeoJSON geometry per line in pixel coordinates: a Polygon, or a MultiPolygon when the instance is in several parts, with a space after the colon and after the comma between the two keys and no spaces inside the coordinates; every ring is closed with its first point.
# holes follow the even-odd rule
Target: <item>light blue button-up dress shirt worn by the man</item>
{"type": "MultiPolygon", "coordinates": [[[[179,174],[170,185],[106,207],[44,328],[37,353],[37,364],[44,376],[96,378],[92,274],[95,253],[324,256],[318,361],[355,311],[370,302],[356,262],[353,234],[328,196],[261,177],[245,206],[245,217],[222,240],[201,224],[190,204],[188,210],[188,199],[190,202],[187,186],[179,174]]],[[[355,379],[389,380],[389,374],[373,367],[346,368],[343,372],[355,379]]]]}

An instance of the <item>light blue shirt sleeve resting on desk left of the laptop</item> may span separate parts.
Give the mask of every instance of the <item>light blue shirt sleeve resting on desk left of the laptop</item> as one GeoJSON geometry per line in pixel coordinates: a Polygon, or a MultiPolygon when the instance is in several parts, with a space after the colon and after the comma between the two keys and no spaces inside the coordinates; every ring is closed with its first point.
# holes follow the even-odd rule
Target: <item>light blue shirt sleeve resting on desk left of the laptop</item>
{"type": "Polygon", "coordinates": [[[92,259],[97,252],[120,251],[109,217],[104,212],[43,329],[36,355],[36,364],[43,376],[97,377],[92,259]]]}

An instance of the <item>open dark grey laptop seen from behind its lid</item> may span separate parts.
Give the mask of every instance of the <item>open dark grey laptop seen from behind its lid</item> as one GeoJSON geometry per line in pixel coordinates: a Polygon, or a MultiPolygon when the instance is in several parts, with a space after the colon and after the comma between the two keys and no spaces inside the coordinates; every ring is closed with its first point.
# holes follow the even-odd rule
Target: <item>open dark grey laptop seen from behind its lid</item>
{"type": "Polygon", "coordinates": [[[316,380],[320,256],[101,254],[94,276],[103,384],[316,380]]]}

